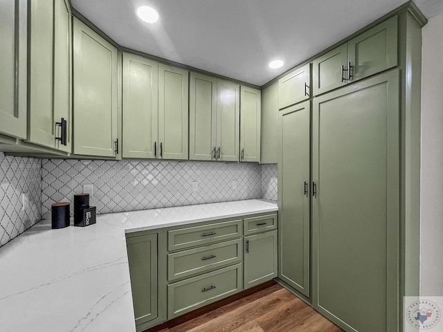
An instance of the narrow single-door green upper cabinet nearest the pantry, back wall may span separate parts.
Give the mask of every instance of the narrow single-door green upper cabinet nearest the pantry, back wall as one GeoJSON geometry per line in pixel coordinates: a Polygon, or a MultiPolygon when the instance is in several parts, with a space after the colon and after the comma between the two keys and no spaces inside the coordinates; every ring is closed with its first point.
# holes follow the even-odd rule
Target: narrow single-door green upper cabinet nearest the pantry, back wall
{"type": "Polygon", "coordinates": [[[260,163],[260,126],[262,97],[260,90],[240,88],[240,161],[260,163]]]}

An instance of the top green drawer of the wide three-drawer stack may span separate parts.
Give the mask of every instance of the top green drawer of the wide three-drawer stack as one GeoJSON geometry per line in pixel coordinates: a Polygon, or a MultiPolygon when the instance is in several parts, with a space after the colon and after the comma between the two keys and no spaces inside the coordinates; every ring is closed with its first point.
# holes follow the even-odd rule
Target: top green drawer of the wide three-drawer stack
{"type": "Polygon", "coordinates": [[[242,236],[242,220],[211,223],[168,231],[168,250],[202,246],[242,236]]]}

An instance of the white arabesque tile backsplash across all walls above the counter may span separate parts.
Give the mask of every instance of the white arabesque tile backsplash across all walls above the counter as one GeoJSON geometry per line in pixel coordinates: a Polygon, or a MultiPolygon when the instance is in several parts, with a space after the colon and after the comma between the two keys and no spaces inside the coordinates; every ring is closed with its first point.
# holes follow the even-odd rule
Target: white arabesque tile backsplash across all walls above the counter
{"type": "Polygon", "coordinates": [[[277,200],[276,164],[40,160],[0,152],[0,181],[0,246],[42,218],[51,218],[52,203],[72,203],[84,184],[93,185],[90,203],[98,213],[242,199],[277,200]],[[192,190],[192,182],[197,182],[197,191],[192,190]]]}

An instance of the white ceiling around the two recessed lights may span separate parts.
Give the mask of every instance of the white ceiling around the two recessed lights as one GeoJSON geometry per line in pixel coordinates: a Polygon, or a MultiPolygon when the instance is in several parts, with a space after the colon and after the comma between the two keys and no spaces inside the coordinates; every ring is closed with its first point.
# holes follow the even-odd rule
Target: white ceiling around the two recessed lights
{"type": "MultiPolygon", "coordinates": [[[[351,35],[405,0],[71,0],[118,44],[205,71],[263,85],[351,35]],[[160,20],[136,17],[156,8],[160,20]],[[272,59],[283,59],[271,69],[272,59]]],[[[427,18],[443,0],[417,0],[427,18]]]]}

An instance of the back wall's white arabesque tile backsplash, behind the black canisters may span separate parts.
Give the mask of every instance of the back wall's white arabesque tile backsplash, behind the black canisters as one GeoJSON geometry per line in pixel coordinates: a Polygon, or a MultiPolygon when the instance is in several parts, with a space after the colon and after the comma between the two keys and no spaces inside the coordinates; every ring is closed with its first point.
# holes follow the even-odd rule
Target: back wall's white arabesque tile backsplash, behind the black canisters
{"type": "MultiPolygon", "coordinates": [[[[83,185],[93,185],[90,204],[98,213],[260,199],[262,167],[246,163],[157,160],[43,160],[42,215],[51,204],[73,202],[83,185]],[[237,188],[233,189],[233,180],[237,188]],[[198,191],[192,192],[192,182],[198,191]]],[[[71,205],[71,212],[73,205],[71,205]]]]}

